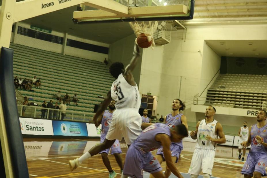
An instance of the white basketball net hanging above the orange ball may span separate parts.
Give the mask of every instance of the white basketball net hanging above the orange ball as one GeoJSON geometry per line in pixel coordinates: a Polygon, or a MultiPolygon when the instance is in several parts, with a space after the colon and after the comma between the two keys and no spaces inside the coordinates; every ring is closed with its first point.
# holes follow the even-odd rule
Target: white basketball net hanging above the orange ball
{"type": "MultiPolygon", "coordinates": [[[[144,33],[145,36],[147,36],[147,41],[152,41],[151,48],[154,49],[156,46],[155,41],[153,39],[153,33],[156,31],[158,27],[158,21],[155,21],[155,23],[152,23],[152,21],[149,21],[148,24],[145,22],[138,23],[137,21],[135,22],[129,22],[130,26],[132,27],[133,31],[135,32],[135,36],[137,37],[141,33],[144,33]]],[[[135,43],[137,38],[135,39],[135,43]]]]}

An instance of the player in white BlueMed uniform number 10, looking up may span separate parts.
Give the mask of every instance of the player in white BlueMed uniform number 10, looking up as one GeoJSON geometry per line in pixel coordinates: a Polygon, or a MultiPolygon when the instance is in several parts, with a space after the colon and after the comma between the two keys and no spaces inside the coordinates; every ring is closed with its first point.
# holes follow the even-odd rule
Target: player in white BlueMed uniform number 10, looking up
{"type": "Polygon", "coordinates": [[[206,118],[196,124],[196,131],[191,131],[192,139],[197,139],[188,173],[191,178],[197,178],[202,171],[204,178],[210,178],[217,143],[225,143],[224,131],[219,122],[213,119],[216,109],[208,106],[206,118]],[[219,136],[219,139],[218,139],[219,136]]]}

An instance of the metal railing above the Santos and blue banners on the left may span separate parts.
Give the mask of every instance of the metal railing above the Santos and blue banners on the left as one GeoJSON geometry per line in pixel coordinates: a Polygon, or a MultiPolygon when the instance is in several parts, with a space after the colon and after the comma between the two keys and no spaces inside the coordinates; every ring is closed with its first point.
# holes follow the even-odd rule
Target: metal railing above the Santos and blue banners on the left
{"type": "Polygon", "coordinates": [[[43,113],[44,116],[43,118],[45,119],[51,119],[51,120],[64,119],[64,120],[72,120],[79,122],[92,122],[92,118],[94,115],[94,113],[69,111],[69,110],[66,110],[64,114],[64,111],[60,109],[50,109],[39,106],[27,106],[27,105],[17,105],[17,106],[18,106],[18,114],[20,117],[41,118],[43,113]]]}

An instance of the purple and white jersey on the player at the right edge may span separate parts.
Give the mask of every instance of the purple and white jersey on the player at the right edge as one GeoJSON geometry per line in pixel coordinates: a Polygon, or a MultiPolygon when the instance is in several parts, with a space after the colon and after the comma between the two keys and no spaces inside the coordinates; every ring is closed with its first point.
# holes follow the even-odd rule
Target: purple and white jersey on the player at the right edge
{"type": "Polygon", "coordinates": [[[263,142],[267,142],[267,124],[262,128],[258,128],[257,124],[253,125],[250,131],[251,135],[251,148],[250,152],[252,153],[264,153],[267,155],[267,148],[264,147],[262,144],[258,143],[257,139],[255,138],[256,135],[262,137],[263,142]]]}

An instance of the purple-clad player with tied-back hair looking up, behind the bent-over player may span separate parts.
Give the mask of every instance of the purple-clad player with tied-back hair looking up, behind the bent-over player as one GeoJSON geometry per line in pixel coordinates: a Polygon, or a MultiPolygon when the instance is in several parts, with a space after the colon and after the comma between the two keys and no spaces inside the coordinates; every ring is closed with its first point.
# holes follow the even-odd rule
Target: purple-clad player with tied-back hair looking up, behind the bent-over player
{"type": "MultiPolygon", "coordinates": [[[[180,124],[183,124],[185,125],[186,128],[188,128],[185,115],[180,113],[180,111],[183,111],[185,109],[185,104],[180,99],[174,99],[171,108],[173,111],[164,117],[164,123],[169,128],[174,128],[175,126],[180,125],[180,124]]],[[[181,151],[183,150],[182,141],[172,142],[170,149],[171,149],[171,156],[172,156],[171,159],[173,163],[177,163],[179,155],[181,154],[181,151]]],[[[163,147],[160,147],[158,149],[158,152],[156,153],[156,158],[160,164],[163,161],[165,161],[163,147]]],[[[168,166],[166,166],[165,175],[166,177],[169,177],[171,175],[171,171],[168,169],[168,166]]],[[[150,175],[150,177],[152,178],[153,175],[150,175]]]]}

